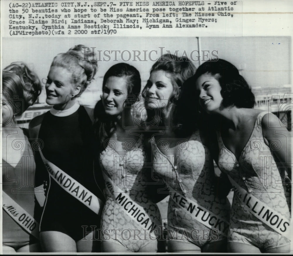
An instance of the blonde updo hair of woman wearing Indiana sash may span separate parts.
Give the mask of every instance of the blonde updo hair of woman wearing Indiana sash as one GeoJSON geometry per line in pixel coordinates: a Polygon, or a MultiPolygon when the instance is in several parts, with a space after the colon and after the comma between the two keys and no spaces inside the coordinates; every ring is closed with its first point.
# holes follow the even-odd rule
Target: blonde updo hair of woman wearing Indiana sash
{"type": "Polygon", "coordinates": [[[98,70],[95,53],[84,45],[76,45],[67,52],[58,54],[54,57],[52,66],[63,67],[72,72],[71,83],[81,86],[79,93],[73,98],[84,92],[98,70]]]}

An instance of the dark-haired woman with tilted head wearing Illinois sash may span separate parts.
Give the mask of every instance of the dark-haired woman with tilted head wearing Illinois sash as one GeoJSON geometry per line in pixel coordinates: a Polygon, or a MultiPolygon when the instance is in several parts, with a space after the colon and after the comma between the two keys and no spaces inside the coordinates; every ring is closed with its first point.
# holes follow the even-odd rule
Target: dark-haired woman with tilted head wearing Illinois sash
{"type": "Polygon", "coordinates": [[[290,212],[282,186],[287,173],[281,169],[291,159],[289,133],[280,131],[275,115],[253,109],[250,87],[225,60],[197,69],[184,88],[182,108],[191,94],[216,130],[216,136],[209,133],[213,155],[235,189],[228,251],[289,252],[290,212]]]}

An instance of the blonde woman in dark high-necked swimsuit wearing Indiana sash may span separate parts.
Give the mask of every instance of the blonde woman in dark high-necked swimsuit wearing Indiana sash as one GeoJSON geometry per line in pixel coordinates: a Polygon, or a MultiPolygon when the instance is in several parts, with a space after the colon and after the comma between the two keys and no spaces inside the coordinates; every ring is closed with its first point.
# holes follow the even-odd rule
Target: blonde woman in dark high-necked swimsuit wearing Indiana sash
{"type": "Polygon", "coordinates": [[[30,122],[32,138],[42,141],[37,174],[46,200],[40,221],[45,252],[96,252],[103,208],[103,180],[95,179],[90,110],[76,99],[97,72],[91,49],[77,45],[54,57],[46,82],[50,111],[30,122]]]}

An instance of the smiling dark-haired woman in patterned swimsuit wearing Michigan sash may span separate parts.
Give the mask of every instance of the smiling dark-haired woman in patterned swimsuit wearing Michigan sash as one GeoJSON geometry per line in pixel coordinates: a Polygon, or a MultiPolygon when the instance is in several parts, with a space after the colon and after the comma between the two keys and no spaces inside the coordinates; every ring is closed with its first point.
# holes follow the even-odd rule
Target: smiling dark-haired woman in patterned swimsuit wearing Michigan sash
{"type": "Polygon", "coordinates": [[[144,138],[132,113],[140,88],[135,67],[113,65],[104,76],[102,100],[95,108],[107,196],[101,218],[103,252],[157,251],[161,215],[146,193],[144,138]]]}

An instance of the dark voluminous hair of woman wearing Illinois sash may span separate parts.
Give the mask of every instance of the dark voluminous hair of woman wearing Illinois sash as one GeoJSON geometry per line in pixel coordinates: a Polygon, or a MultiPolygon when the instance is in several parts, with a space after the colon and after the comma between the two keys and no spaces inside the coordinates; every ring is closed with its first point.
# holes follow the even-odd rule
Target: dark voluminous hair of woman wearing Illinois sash
{"type": "Polygon", "coordinates": [[[196,80],[203,74],[211,74],[219,82],[222,88],[222,107],[253,108],[255,105],[251,88],[233,64],[222,59],[204,62],[181,88],[176,109],[178,133],[191,134],[195,129],[202,128],[199,125],[212,123],[211,118],[200,114],[203,111],[198,101],[199,92],[195,88],[196,80]]]}

